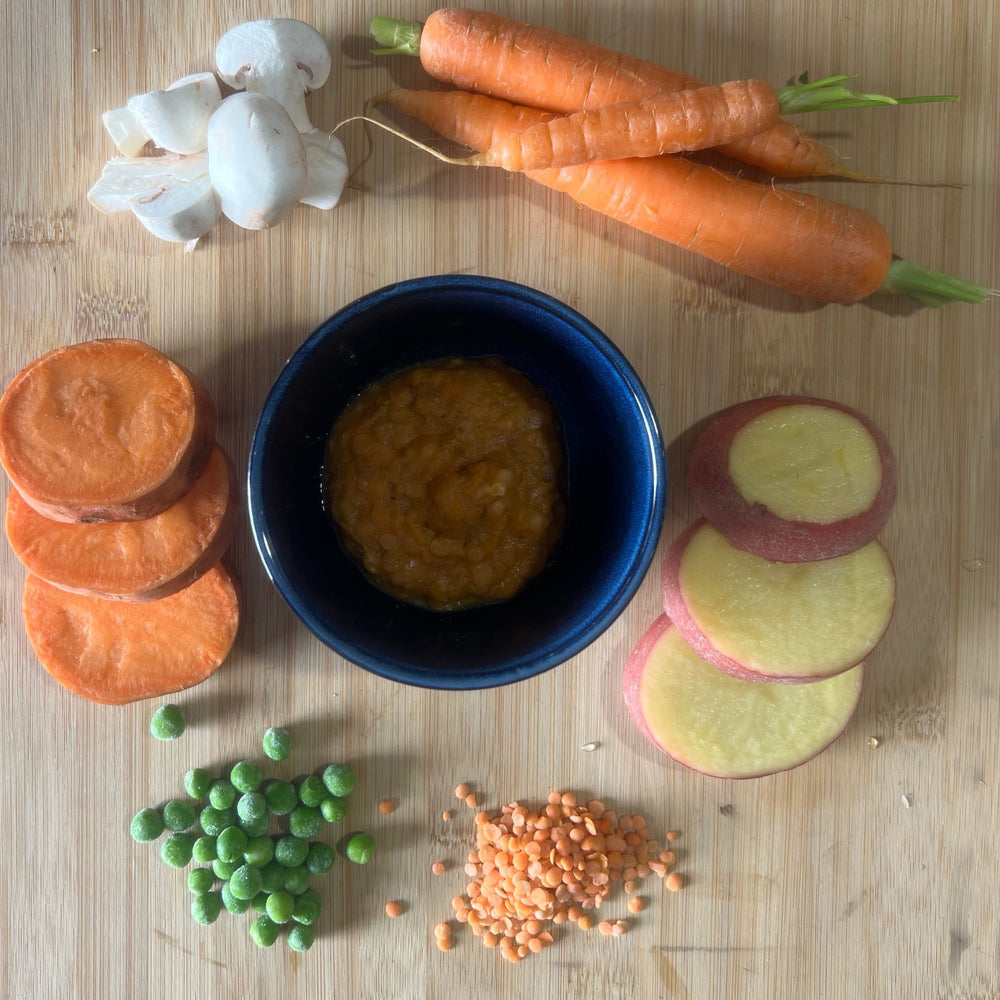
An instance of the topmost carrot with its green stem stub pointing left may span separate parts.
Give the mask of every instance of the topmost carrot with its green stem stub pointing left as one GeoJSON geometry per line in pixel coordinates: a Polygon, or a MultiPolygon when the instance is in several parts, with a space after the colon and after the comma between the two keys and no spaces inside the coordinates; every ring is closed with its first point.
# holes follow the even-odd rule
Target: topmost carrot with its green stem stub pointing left
{"type": "MultiPolygon", "coordinates": [[[[421,26],[376,18],[376,52],[419,54],[434,79],[560,114],[703,86],[655,63],[486,11],[434,11],[421,26]]],[[[833,162],[804,130],[778,122],[722,150],[776,177],[867,179],[833,162]]]]}

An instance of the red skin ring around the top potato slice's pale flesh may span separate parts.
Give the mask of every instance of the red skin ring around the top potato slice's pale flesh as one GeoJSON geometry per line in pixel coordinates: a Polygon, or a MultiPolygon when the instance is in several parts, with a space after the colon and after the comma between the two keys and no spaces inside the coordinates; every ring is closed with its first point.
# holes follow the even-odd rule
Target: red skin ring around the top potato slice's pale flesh
{"type": "Polygon", "coordinates": [[[730,545],[772,562],[813,562],[846,555],[874,539],[896,501],[896,460],[885,435],[863,413],[829,399],[765,396],[717,414],[699,435],[688,465],[695,503],[730,545]],[[763,504],[750,503],[729,476],[729,449],[741,428],[780,406],[826,406],[858,420],[871,434],[882,464],[882,483],[871,507],[853,517],[816,524],[788,521],[763,504]]]}

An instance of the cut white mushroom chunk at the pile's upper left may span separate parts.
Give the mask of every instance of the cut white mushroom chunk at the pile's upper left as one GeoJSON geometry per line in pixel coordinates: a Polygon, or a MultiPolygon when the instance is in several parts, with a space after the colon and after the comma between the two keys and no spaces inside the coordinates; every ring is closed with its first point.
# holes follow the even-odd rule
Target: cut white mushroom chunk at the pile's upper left
{"type": "Polygon", "coordinates": [[[149,140],[172,153],[198,153],[205,148],[208,119],[221,100],[212,73],[193,73],[166,90],[136,94],[125,107],[105,111],[102,117],[125,156],[137,156],[149,140]]]}

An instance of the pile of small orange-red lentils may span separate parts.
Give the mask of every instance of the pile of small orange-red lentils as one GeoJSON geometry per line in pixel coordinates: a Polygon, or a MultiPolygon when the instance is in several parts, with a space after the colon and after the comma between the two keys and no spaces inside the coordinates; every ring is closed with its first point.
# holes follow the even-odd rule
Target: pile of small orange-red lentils
{"type": "MultiPolygon", "coordinates": [[[[456,794],[460,790],[469,804],[471,793],[459,786],[456,794]]],[[[674,831],[667,833],[668,841],[676,839],[674,831]]],[[[633,913],[645,905],[631,895],[642,879],[658,875],[668,889],[680,889],[683,879],[669,871],[676,860],[673,851],[660,850],[644,817],[619,816],[597,799],[580,804],[572,792],[552,792],[539,811],[511,802],[497,816],[476,814],[476,846],[465,865],[470,881],[452,906],[486,947],[518,962],[553,943],[550,923],[593,927],[590,911],[618,880],[631,896],[633,913]]],[[[435,932],[443,950],[451,944],[445,927],[439,924],[435,932]]],[[[602,920],[597,927],[618,936],[628,922],[602,920]]]]}

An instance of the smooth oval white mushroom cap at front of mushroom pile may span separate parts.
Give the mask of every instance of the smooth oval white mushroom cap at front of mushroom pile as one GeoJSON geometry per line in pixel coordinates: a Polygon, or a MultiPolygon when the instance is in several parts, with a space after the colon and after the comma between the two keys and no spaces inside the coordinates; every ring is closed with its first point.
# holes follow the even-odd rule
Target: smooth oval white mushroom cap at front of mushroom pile
{"type": "Polygon", "coordinates": [[[306,151],[288,112],[263,94],[233,94],[208,123],[208,169],[223,214],[268,229],[306,190],[306,151]]]}

